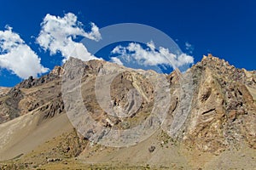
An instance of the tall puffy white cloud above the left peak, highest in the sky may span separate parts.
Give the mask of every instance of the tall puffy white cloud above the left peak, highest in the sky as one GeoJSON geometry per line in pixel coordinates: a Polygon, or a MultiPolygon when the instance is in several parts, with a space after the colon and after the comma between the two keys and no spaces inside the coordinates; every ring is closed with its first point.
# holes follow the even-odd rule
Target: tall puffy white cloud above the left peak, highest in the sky
{"type": "Polygon", "coordinates": [[[64,57],[63,61],[70,56],[84,61],[98,59],[88,52],[83,43],[74,41],[77,37],[99,41],[102,38],[99,28],[94,23],[90,23],[90,26],[90,32],[84,31],[83,24],[72,13],[67,13],[64,17],[46,14],[37,42],[45,51],[49,50],[51,55],[60,52],[64,57]]]}

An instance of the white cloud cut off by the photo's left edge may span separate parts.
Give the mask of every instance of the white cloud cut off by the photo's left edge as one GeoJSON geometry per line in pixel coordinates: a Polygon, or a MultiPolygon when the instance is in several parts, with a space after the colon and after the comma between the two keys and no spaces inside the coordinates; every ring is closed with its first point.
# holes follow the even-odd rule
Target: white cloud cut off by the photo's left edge
{"type": "Polygon", "coordinates": [[[40,64],[41,59],[20,36],[7,26],[0,31],[0,67],[12,71],[20,78],[38,77],[49,71],[40,64]]]}

